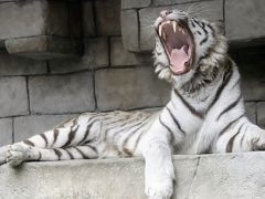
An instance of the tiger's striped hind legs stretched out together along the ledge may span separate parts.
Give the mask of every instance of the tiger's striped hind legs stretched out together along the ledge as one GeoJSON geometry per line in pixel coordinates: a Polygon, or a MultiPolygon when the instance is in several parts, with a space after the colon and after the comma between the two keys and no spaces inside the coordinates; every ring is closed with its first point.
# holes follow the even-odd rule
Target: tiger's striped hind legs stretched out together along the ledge
{"type": "Polygon", "coordinates": [[[96,158],[102,124],[91,117],[76,117],[52,130],[0,148],[0,165],[18,166],[28,160],[96,158]]]}

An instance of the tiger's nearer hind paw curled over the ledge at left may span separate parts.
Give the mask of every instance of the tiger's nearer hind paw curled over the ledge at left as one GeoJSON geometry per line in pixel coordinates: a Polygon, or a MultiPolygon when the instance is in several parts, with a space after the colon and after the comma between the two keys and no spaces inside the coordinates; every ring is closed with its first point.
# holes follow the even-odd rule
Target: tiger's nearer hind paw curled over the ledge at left
{"type": "Polygon", "coordinates": [[[7,151],[7,163],[10,166],[17,167],[24,160],[30,158],[30,149],[21,144],[9,145],[7,151]]]}

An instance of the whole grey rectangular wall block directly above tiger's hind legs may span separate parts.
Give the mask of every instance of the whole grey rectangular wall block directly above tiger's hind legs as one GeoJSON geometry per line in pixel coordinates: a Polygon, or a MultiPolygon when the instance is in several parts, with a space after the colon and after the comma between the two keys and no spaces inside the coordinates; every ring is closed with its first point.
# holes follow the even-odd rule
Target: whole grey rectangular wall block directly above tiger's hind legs
{"type": "Polygon", "coordinates": [[[67,114],[95,108],[91,72],[30,77],[29,91],[32,113],[67,114]]]}

